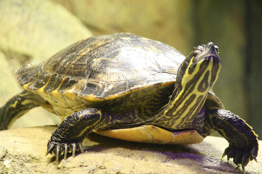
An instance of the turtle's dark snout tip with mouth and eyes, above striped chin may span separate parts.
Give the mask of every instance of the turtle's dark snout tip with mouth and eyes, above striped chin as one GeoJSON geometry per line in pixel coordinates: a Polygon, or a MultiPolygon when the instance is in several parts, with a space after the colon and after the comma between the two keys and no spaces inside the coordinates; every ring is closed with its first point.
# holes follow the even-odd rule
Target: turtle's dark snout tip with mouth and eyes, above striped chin
{"type": "Polygon", "coordinates": [[[212,58],[215,60],[215,62],[219,62],[221,64],[221,59],[218,55],[219,49],[212,42],[194,48],[194,52],[197,54],[193,59],[194,64],[197,64],[203,60],[210,60],[212,58]]]}

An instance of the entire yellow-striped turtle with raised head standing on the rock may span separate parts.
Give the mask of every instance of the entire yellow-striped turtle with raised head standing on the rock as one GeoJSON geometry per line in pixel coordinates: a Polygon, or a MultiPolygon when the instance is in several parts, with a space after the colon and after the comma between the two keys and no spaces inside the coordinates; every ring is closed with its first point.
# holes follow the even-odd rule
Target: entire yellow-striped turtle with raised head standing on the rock
{"type": "Polygon", "coordinates": [[[0,130],[42,106],[63,121],[46,155],[84,152],[92,131],[128,141],[194,144],[218,131],[228,142],[222,158],[236,165],[255,161],[258,135],[225,110],[212,88],[219,76],[219,49],[212,42],[185,57],[159,41],[116,33],[77,41],[46,61],[16,71],[24,91],[0,109],[0,130]]]}

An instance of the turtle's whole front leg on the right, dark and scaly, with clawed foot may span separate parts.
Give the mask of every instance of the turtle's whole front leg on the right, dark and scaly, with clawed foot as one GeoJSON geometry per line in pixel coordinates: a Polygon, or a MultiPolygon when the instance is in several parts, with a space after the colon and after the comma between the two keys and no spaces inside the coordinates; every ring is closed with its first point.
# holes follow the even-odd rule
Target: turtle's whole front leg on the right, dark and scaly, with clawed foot
{"type": "Polygon", "coordinates": [[[222,158],[225,155],[227,155],[227,160],[233,158],[236,165],[242,165],[244,173],[247,163],[253,159],[257,162],[258,135],[252,131],[252,127],[245,120],[228,110],[206,110],[203,132],[208,133],[210,130],[218,131],[229,142],[222,158]]]}

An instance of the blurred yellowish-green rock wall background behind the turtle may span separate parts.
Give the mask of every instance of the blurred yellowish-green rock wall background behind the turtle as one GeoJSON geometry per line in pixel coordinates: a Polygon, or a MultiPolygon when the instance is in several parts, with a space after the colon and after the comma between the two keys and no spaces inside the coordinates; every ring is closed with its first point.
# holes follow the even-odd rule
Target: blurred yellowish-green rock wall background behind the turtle
{"type": "MultiPolygon", "coordinates": [[[[262,136],[261,2],[1,0],[0,106],[22,91],[15,77],[17,68],[44,61],[85,37],[131,32],[169,44],[184,55],[212,41],[222,59],[214,92],[227,110],[262,136]]],[[[58,117],[35,108],[12,128],[57,123],[58,117]]]]}

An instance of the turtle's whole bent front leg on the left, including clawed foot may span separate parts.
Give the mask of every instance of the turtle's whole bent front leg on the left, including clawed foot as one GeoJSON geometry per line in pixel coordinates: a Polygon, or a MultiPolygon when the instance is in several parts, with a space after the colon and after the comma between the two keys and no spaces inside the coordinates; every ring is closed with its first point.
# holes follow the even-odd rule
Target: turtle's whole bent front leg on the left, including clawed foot
{"type": "Polygon", "coordinates": [[[110,120],[105,112],[96,108],[83,109],[65,117],[65,120],[52,132],[46,155],[53,152],[58,162],[60,155],[64,154],[66,159],[67,152],[72,152],[73,157],[76,150],[80,149],[84,153],[82,141],[86,135],[93,129],[108,125],[110,120]]]}

